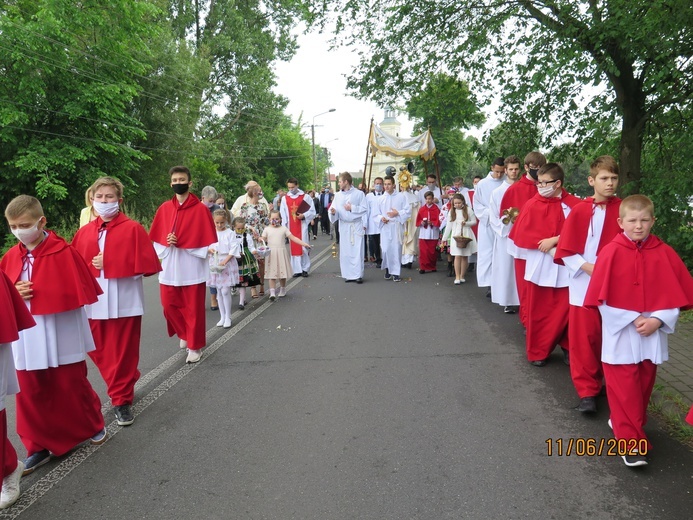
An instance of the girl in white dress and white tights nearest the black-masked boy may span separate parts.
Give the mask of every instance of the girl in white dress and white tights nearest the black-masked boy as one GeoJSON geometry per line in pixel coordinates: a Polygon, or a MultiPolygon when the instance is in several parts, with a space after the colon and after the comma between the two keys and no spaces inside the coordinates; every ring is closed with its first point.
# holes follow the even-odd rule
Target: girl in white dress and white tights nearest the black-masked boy
{"type": "Polygon", "coordinates": [[[217,241],[209,246],[209,278],[207,285],[216,287],[221,319],[217,327],[231,327],[231,287],[238,285],[238,262],[241,247],[236,234],[229,229],[229,214],[218,209],[212,214],[217,228],[217,241]]]}

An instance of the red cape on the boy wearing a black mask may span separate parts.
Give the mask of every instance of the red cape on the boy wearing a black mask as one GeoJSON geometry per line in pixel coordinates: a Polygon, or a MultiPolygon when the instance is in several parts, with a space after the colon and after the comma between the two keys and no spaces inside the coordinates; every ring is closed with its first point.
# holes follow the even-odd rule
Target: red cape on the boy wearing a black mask
{"type": "Polygon", "coordinates": [[[149,238],[167,246],[169,233],[176,234],[176,247],[181,249],[207,247],[217,241],[212,213],[192,193],[188,194],[183,204],[179,204],[174,196],[156,210],[149,238]]]}

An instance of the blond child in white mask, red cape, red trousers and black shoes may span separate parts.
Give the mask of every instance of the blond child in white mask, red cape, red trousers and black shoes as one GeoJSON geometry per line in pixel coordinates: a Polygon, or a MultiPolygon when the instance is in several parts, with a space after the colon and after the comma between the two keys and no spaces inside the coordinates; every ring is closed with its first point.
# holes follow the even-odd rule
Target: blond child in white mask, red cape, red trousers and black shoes
{"type": "Polygon", "coordinates": [[[86,307],[96,343],[89,356],[106,382],[118,424],[129,426],[135,420],[132,402],[140,377],[142,277],[161,271],[161,263],[142,225],[120,211],[120,181],[97,179],[92,197],[92,208],[99,216],[80,228],[72,240],[103,290],[99,301],[86,307]]]}

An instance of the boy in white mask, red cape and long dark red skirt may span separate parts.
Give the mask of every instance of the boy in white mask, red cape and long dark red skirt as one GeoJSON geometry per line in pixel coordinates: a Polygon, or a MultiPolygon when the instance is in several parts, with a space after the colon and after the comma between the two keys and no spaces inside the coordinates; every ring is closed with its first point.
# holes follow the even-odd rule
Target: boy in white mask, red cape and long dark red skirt
{"type": "Polygon", "coordinates": [[[101,288],[79,253],[52,231],[34,197],[5,209],[20,243],[0,261],[36,321],[12,344],[20,392],[17,433],[27,449],[24,475],[91,439],[106,441],[101,401],[87,379],[94,340],[84,306],[101,288]]]}

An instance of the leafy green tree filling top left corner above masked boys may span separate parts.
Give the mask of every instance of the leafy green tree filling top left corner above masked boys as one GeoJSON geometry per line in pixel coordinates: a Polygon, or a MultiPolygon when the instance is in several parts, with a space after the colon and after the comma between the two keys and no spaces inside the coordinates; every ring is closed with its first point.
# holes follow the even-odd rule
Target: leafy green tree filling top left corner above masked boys
{"type": "Polygon", "coordinates": [[[154,64],[158,11],[139,0],[5,2],[0,6],[0,204],[43,199],[76,215],[95,177],[129,174],[147,155],[132,111],[154,64]]]}

